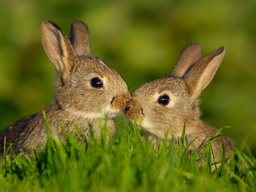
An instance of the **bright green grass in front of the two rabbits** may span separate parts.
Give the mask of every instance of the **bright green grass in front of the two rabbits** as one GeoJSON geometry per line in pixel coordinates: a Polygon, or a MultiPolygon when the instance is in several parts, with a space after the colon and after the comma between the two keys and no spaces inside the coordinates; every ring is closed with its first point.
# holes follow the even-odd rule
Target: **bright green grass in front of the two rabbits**
{"type": "MultiPolygon", "coordinates": [[[[103,127],[104,130],[104,127],[103,127]]],[[[49,132],[48,132],[49,133],[49,132]]],[[[228,166],[211,170],[211,161],[198,163],[189,154],[185,132],[180,145],[157,148],[142,142],[136,126],[117,120],[117,135],[106,143],[92,138],[79,143],[73,134],[67,143],[48,134],[46,149],[28,157],[4,155],[0,161],[0,191],[255,191],[256,165],[236,146],[228,166]]],[[[210,142],[209,142],[210,143],[210,142]]],[[[205,151],[210,154],[210,147],[205,151]]]]}

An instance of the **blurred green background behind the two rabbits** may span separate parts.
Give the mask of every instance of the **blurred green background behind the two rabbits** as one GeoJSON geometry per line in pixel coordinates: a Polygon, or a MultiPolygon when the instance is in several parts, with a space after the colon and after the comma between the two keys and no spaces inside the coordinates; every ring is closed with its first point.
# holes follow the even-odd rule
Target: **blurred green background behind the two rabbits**
{"type": "MultiPolygon", "coordinates": [[[[203,55],[226,47],[201,96],[202,119],[256,148],[256,1],[2,1],[0,6],[0,130],[44,109],[55,69],[41,45],[50,19],[66,34],[74,19],[91,33],[92,53],[113,66],[133,91],[168,75],[181,50],[200,42],[203,55]]],[[[255,152],[254,152],[255,154],[255,152]]]]}

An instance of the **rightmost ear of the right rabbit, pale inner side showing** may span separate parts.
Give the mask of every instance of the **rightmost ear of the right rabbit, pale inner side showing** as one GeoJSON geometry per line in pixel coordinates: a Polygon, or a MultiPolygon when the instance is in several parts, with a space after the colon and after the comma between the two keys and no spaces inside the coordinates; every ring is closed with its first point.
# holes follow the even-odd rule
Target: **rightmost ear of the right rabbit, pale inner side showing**
{"type": "Polygon", "coordinates": [[[219,48],[196,62],[185,75],[184,79],[187,82],[193,97],[199,97],[202,90],[208,86],[219,68],[224,54],[225,48],[219,48]]]}

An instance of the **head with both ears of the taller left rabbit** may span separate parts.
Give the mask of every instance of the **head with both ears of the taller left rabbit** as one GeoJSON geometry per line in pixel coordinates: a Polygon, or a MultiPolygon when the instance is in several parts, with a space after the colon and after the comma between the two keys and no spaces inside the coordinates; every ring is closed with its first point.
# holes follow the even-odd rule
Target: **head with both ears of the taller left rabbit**
{"type": "Polygon", "coordinates": [[[44,49],[58,72],[54,104],[86,119],[115,117],[131,99],[120,75],[91,55],[87,26],[75,20],[70,38],[55,24],[41,24],[44,49]]]}

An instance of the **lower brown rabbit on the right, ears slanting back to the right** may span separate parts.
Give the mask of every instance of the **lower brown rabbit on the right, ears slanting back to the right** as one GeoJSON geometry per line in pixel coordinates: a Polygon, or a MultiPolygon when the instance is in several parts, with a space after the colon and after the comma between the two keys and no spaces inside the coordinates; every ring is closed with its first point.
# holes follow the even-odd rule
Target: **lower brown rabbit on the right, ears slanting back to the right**
{"type": "MultiPolygon", "coordinates": [[[[221,47],[204,58],[201,58],[201,52],[197,43],[185,47],[171,75],[146,82],[132,93],[125,112],[132,122],[136,114],[143,140],[147,135],[156,146],[167,133],[168,141],[174,139],[178,143],[185,125],[187,141],[193,141],[189,151],[203,152],[206,141],[217,133],[217,129],[200,120],[199,96],[219,68],[225,48],[221,47]]],[[[216,137],[211,158],[221,159],[222,143],[226,155],[233,151],[226,136],[216,137]]]]}

